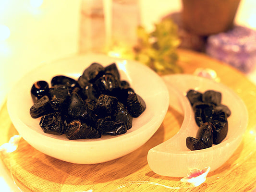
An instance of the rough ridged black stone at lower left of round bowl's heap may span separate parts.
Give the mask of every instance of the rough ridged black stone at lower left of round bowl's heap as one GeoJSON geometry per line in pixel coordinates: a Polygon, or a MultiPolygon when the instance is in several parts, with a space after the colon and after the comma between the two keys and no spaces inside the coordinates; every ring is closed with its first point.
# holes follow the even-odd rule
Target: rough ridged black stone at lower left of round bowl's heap
{"type": "Polygon", "coordinates": [[[62,135],[64,133],[64,124],[59,112],[44,115],[39,125],[45,133],[54,135],[62,135]]]}

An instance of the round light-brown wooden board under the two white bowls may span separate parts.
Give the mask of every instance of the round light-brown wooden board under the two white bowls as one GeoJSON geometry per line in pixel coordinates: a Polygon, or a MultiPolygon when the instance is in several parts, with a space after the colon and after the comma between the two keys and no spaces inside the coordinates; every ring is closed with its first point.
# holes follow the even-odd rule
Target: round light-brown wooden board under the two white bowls
{"type": "MultiPolygon", "coordinates": [[[[241,72],[203,54],[179,50],[179,55],[184,73],[193,73],[199,67],[215,70],[220,82],[244,100],[249,113],[242,143],[223,166],[208,174],[203,184],[193,187],[181,182],[181,178],[160,176],[147,164],[148,150],[171,138],[182,124],[183,115],[170,107],[160,128],[146,144],[106,163],[67,163],[42,154],[21,139],[16,151],[0,153],[16,185],[24,192],[250,192],[255,189],[256,86],[241,72]]],[[[0,110],[0,145],[15,134],[5,104],[0,110]]]]}

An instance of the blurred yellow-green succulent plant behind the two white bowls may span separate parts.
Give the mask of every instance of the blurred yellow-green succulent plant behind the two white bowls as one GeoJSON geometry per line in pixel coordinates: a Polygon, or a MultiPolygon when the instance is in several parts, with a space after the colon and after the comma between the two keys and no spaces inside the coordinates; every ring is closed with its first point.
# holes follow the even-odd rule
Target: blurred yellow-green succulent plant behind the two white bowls
{"type": "Polygon", "coordinates": [[[177,65],[177,48],[180,45],[177,31],[178,27],[171,19],[155,24],[155,30],[151,33],[139,26],[134,59],[160,74],[182,72],[181,67],[177,65]]]}

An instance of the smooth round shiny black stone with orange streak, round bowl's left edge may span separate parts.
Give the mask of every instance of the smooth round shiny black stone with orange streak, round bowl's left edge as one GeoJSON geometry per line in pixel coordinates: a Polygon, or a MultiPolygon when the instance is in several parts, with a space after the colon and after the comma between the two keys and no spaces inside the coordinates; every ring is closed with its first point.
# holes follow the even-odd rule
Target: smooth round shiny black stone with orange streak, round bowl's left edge
{"type": "Polygon", "coordinates": [[[43,96],[48,96],[49,94],[49,84],[46,81],[35,82],[30,90],[30,94],[34,103],[43,96]]]}

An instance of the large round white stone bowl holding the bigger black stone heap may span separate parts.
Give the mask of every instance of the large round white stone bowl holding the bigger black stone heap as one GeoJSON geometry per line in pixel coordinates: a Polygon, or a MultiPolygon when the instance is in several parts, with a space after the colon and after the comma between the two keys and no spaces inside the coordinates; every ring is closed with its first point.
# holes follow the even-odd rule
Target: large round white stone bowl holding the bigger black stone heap
{"type": "Polygon", "coordinates": [[[27,73],[8,94],[8,112],[19,134],[37,150],[63,161],[78,164],[106,162],[124,156],[141,145],[158,130],[169,106],[168,89],[157,73],[135,61],[110,58],[100,54],[76,55],[45,63],[27,73]],[[47,134],[39,126],[40,118],[32,119],[30,89],[34,82],[50,83],[58,74],[79,77],[92,62],[103,66],[116,62],[121,79],[130,82],[134,91],[146,102],[146,110],[133,120],[133,127],[118,136],[99,139],[68,140],[65,135],[47,134]]]}

